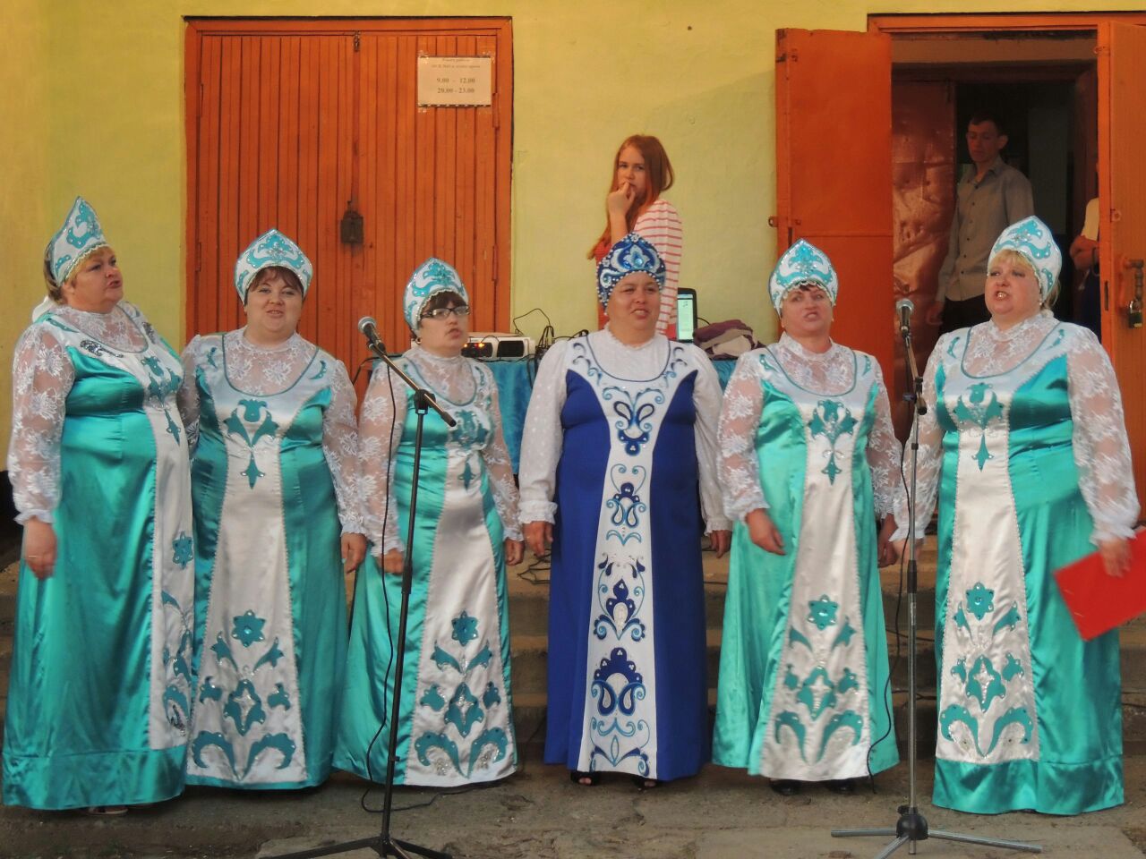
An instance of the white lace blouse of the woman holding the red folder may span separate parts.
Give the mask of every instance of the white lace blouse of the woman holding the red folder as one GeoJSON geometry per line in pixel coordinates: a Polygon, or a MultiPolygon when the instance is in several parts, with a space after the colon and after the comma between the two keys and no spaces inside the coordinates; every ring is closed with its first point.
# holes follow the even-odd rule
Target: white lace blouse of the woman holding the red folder
{"type": "MultiPolygon", "coordinates": [[[[1138,496],[1135,491],[1127,438],[1122,395],[1114,368],[1098,338],[1077,325],[1059,323],[1043,312],[1003,331],[994,322],[952,331],[935,344],[924,372],[924,400],[935,403],[935,376],[948,356],[951,338],[970,337],[963,353],[963,368],[974,376],[998,376],[1014,370],[1061,324],[1069,338],[1067,387],[1070,415],[1074,418],[1074,460],[1083,499],[1094,520],[1092,539],[1098,543],[1113,537],[1130,537],[1138,520],[1138,496]]],[[[959,353],[959,347],[955,349],[959,353]]],[[[949,356],[950,357],[950,356],[949,356]]],[[[916,533],[931,520],[942,465],[943,431],[929,408],[919,424],[919,505],[916,533]]]]}

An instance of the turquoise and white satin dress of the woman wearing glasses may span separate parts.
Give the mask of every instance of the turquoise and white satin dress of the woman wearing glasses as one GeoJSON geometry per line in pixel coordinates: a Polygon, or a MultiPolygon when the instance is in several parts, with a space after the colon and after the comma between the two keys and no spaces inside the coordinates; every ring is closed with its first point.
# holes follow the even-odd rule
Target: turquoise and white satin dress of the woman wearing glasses
{"type": "MultiPolygon", "coordinates": [[[[403,357],[401,365],[430,387],[414,361],[403,357]]],[[[465,370],[474,383],[471,400],[452,402],[435,392],[457,425],[447,427],[430,412],[423,430],[394,774],[399,785],[458,786],[501,779],[517,769],[504,531],[482,457],[493,436],[494,383],[477,362],[468,361],[465,370]]],[[[399,383],[394,385],[397,391],[399,383]]],[[[363,410],[369,400],[370,394],[363,410]]],[[[403,539],[417,424],[413,392],[406,394],[406,420],[395,427],[401,441],[390,486],[403,539]]],[[[390,754],[402,577],[383,573],[374,551],[371,545],[354,589],[335,766],[380,782],[390,754]]]]}

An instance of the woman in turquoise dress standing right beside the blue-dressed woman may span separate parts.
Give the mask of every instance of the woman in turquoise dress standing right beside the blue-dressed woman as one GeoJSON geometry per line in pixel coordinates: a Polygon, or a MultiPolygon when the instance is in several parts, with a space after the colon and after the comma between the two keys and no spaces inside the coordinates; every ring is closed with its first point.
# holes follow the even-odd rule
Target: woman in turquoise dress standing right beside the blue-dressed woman
{"type": "Polygon", "coordinates": [[[713,761],[785,796],[804,781],[850,793],[898,761],[878,567],[906,521],[900,444],[879,363],[830,337],[827,257],[796,242],[769,291],[784,334],[740,357],[721,410],[738,522],[713,761]]]}

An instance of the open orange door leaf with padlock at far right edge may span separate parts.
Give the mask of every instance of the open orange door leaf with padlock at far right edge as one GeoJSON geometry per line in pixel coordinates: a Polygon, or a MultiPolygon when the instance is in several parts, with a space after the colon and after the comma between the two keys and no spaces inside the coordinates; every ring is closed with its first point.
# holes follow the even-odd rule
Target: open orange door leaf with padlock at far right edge
{"type": "Polygon", "coordinates": [[[1136,269],[1146,260],[1146,27],[1104,22],[1098,30],[1098,181],[1101,218],[1102,342],[1110,353],[1133,454],[1135,482],[1146,494],[1146,329],[1128,324],[1136,269]]]}

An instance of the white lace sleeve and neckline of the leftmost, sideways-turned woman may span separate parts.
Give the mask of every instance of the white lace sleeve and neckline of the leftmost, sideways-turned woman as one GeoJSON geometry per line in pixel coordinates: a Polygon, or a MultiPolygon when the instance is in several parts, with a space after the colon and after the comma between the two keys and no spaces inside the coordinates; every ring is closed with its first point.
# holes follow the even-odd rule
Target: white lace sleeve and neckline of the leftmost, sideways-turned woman
{"type": "MultiPolygon", "coordinates": [[[[119,352],[140,353],[155,345],[166,348],[140,309],[127,301],[110,313],[58,305],[52,309],[52,318],[119,352]]],[[[60,499],[60,439],[76,371],[56,331],[41,317],[25,329],[13,356],[8,476],[17,522],[50,522],[60,499]]]]}

